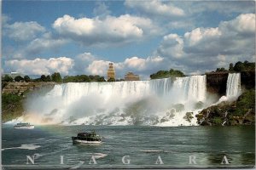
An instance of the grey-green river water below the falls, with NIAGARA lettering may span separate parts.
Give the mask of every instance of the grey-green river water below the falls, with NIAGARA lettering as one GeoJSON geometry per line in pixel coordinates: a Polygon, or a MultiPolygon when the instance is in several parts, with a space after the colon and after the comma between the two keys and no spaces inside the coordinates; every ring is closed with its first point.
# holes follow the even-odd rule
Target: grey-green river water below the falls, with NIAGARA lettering
{"type": "Polygon", "coordinates": [[[18,130],[12,125],[3,124],[2,133],[2,164],[6,169],[255,165],[254,126],[48,125],[36,126],[32,130],[18,130]],[[95,130],[103,137],[102,144],[73,144],[72,136],[90,130],[95,130]]]}

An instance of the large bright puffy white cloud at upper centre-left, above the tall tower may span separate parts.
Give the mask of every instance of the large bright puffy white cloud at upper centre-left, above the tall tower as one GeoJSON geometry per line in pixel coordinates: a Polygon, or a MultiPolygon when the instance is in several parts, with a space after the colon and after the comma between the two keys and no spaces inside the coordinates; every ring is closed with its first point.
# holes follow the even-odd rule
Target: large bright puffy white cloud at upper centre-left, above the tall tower
{"type": "Polygon", "coordinates": [[[140,41],[144,37],[158,34],[160,30],[151,20],[129,14],[107,16],[104,19],[75,19],[66,14],[55,20],[53,28],[61,37],[82,42],[84,45],[100,46],[140,41]]]}

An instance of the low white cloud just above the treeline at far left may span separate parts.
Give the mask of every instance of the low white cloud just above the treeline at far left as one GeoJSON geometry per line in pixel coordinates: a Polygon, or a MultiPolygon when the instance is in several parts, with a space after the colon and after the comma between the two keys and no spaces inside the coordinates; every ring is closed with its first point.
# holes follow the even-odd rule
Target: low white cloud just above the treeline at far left
{"type": "Polygon", "coordinates": [[[32,60],[11,59],[4,62],[4,67],[10,71],[18,71],[26,75],[49,75],[53,72],[67,75],[73,67],[73,59],[67,57],[32,60]]]}

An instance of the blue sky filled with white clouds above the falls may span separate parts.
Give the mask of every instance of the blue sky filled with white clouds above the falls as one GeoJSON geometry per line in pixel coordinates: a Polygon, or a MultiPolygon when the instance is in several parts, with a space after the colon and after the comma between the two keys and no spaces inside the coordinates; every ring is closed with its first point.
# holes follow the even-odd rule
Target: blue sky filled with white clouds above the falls
{"type": "Polygon", "coordinates": [[[2,1],[2,72],[143,80],[255,62],[254,1],[2,1]]]}

